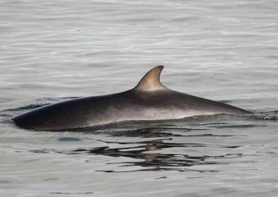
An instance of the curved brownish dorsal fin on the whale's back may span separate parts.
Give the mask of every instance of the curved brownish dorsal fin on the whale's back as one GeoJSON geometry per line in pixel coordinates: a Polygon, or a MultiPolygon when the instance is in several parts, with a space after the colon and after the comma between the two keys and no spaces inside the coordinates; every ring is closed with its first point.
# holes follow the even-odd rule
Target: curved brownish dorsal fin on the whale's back
{"type": "Polygon", "coordinates": [[[164,67],[158,66],[154,67],[152,70],[148,71],[147,74],[140,80],[135,89],[154,91],[157,89],[164,89],[165,87],[161,84],[160,77],[161,71],[164,67]]]}

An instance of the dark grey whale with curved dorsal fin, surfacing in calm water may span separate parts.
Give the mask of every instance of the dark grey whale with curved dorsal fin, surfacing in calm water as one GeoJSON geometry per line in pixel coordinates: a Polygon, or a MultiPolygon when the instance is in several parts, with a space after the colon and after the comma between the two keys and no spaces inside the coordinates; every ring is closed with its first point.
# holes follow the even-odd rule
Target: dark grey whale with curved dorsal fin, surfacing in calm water
{"type": "Polygon", "coordinates": [[[211,114],[250,114],[232,105],[176,92],[161,84],[163,66],[154,67],[126,92],[46,105],[13,118],[20,128],[62,130],[119,121],[182,119],[211,114]]]}

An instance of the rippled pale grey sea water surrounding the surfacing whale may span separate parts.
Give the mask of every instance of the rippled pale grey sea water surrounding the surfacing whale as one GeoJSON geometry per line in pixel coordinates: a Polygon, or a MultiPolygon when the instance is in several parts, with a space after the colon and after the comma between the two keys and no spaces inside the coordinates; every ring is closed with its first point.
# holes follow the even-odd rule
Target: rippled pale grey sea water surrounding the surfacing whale
{"type": "Polygon", "coordinates": [[[278,1],[0,0],[0,196],[278,196],[278,1]],[[134,87],[254,112],[47,132],[10,118],[134,87]]]}

